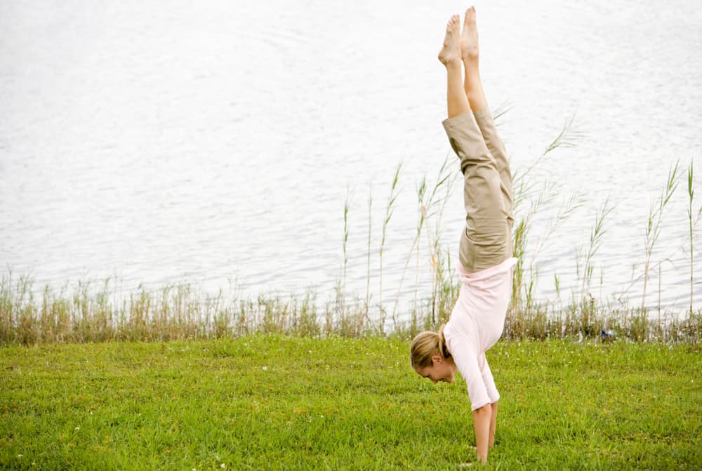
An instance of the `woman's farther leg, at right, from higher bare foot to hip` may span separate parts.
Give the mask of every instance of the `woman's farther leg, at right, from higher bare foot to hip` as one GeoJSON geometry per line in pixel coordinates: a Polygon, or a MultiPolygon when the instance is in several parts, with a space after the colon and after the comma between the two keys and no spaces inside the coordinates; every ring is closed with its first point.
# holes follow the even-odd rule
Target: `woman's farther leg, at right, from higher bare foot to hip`
{"type": "Polygon", "coordinates": [[[480,80],[478,31],[475,25],[475,8],[472,6],[465,11],[463,20],[461,60],[463,60],[463,68],[465,69],[463,89],[470,102],[470,109],[475,115],[475,121],[477,121],[485,144],[496,161],[511,232],[512,224],[514,223],[512,215],[512,172],[510,171],[505,145],[497,134],[495,123],[487,106],[482,81],[480,80]]]}

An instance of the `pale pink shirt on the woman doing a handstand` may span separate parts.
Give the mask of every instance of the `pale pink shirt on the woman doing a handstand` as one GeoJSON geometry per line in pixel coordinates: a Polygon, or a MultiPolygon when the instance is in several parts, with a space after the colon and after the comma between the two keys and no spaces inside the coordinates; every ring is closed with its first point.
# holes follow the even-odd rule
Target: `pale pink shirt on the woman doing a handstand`
{"type": "Polygon", "coordinates": [[[461,292],[444,327],[446,347],[468,386],[471,409],[497,402],[500,394],[485,359],[485,350],[502,335],[512,296],[516,258],[480,272],[459,267],[461,292]]]}

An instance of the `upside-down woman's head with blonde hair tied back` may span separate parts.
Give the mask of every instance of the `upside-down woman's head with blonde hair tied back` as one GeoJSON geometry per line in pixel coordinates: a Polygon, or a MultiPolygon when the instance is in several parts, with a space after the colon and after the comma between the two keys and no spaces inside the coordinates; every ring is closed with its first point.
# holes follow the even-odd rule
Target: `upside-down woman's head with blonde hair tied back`
{"type": "Polygon", "coordinates": [[[453,383],[456,364],[446,348],[444,326],[438,332],[419,333],[412,340],[409,357],[412,368],[420,376],[429,378],[434,383],[453,383]]]}

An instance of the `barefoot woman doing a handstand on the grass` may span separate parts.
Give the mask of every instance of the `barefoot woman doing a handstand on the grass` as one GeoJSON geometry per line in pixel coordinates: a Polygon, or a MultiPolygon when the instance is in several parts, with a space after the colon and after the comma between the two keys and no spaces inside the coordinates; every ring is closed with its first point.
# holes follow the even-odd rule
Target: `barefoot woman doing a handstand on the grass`
{"type": "Polygon", "coordinates": [[[446,66],[444,124],[451,147],[461,159],[465,230],[458,273],[461,293],[449,322],[439,332],[423,332],[411,345],[417,373],[435,383],[451,383],[456,369],[468,384],[479,460],[495,442],[497,392],[485,359],[505,325],[512,270],[512,174],[480,81],[475,8],[446,25],[439,60],[446,66]],[[465,72],[462,79],[461,69],[465,72]]]}

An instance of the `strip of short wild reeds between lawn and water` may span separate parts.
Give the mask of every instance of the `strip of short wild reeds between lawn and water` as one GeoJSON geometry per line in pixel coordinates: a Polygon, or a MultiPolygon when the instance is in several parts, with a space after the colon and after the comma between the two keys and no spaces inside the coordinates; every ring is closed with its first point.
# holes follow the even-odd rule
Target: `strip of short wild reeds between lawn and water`
{"type": "MultiPolygon", "coordinates": [[[[515,273],[516,276],[516,273],[515,273]]],[[[156,291],[143,286],[122,296],[110,279],[79,281],[73,291],[45,286],[41,295],[27,276],[0,277],[0,345],[237,338],[253,333],[289,336],[411,338],[448,321],[458,282],[443,280],[433,293],[398,312],[343,295],[209,295],[189,284],[156,291]]],[[[515,293],[517,296],[518,293],[515,293]]],[[[397,307],[397,305],[395,305],[397,307]]],[[[581,302],[539,303],[513,298],[503,338],[630,340],[691,343],[702,340],[702,307],[672,314],[641,307],[612,307],[588,296],[581,302]]]]}

